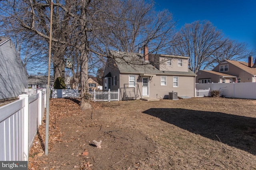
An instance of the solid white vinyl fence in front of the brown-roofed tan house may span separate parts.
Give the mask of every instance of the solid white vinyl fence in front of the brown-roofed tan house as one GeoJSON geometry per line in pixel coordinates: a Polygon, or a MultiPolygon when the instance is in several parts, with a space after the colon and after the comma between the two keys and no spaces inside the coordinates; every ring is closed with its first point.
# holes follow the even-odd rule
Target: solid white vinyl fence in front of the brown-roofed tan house
{"type": "Polygon", "coordinates": [[[225,98],[256,99],[256,82],[244,83],[200,83],[196,89],[220,90],[225,98]]]}

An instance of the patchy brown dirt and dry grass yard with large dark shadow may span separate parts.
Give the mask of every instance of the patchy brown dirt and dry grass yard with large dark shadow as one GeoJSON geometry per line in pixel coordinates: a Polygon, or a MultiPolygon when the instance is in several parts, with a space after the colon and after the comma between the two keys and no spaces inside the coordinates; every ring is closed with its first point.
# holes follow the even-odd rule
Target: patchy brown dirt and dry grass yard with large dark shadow
{"type": "Polygon", "coordinates": [[[256,170],[256,100],[92,102],[50,100],[30,150],[30,170],[256,170]],[[102,141],[97,148],[93,140],[102,141]]]}

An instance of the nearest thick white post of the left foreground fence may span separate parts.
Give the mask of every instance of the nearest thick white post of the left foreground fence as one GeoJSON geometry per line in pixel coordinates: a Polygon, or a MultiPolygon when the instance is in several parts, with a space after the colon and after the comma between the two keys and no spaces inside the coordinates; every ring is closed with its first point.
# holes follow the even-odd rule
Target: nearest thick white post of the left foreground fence
{"type": "Polygon", "coordinates": [[[23,152],[23,161],[28,161],[28,94],[20,94],[19,95],[19,99],[24,99],[25,101],[25,106],[24,106],[24,129],[23,129],[23,139],[24,141],[22,141],[23,143],[23,148],[24,148],[24,152],[23,152]]]}

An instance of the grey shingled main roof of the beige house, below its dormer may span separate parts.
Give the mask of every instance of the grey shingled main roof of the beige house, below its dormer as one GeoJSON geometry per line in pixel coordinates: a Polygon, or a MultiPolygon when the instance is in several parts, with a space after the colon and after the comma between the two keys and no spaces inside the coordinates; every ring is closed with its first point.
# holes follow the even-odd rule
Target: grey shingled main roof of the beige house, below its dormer
{"type": "Polygon", "coordinates": [[[196,76],[194,72],[160,71],[152,64],[143,61],[143,54],[110,51],[110,58],[114,59],[120,73],[128,74],[162,74],[196,76]]]}

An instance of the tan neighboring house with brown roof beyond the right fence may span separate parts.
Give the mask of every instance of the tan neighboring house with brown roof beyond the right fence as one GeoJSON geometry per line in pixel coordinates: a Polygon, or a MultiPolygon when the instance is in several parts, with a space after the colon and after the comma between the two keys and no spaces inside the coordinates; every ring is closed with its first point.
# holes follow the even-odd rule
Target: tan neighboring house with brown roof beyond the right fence
{"type": "Polygon", "coordinates": [[[232,83],[256,82],[256,60],[252,57],[248,63],[243,61],[224,60],[212,70],[199,70],[196,83],[232,83]]]}

